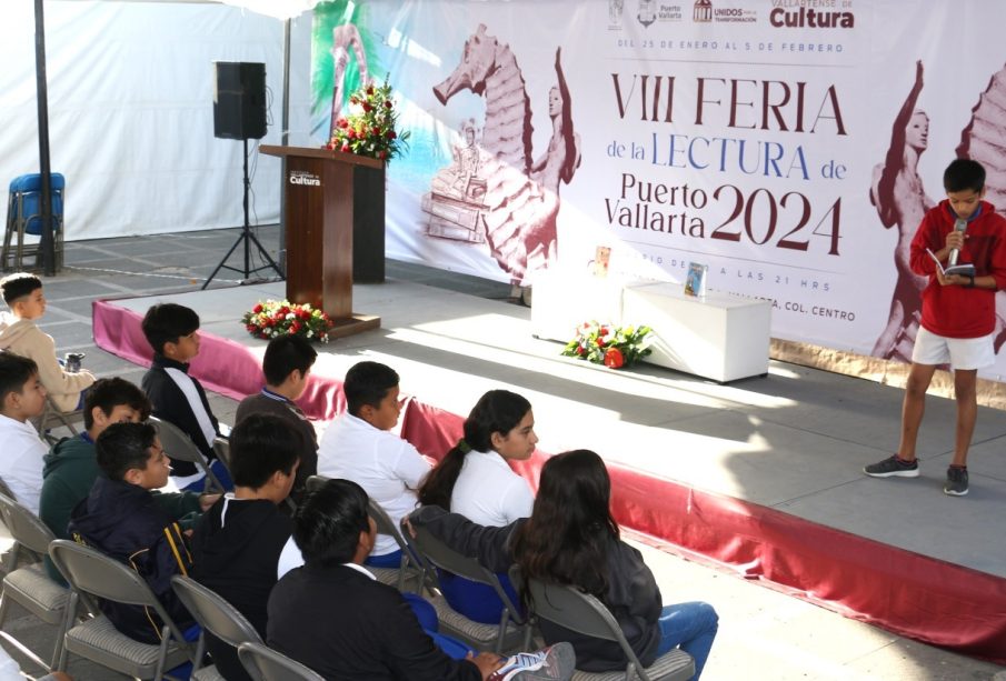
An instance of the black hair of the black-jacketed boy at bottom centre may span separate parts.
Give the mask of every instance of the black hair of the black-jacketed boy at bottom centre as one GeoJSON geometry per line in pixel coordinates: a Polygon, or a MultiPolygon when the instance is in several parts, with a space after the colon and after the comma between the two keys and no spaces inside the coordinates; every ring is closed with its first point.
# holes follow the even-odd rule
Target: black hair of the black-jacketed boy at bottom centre
{"type": "Polygon", "coordinates": [[[309,492],[293,514],[293,543],[308,565],[352,561],[360,532],[369,530],[367,492],[349,480],[329,480],[309,492]]]}

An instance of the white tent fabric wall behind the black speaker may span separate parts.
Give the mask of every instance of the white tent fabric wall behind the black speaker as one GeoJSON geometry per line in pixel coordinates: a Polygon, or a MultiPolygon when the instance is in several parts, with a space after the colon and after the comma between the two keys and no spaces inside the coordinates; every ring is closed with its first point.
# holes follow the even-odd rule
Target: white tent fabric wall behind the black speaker
{"type": "MultiPolygon", "coordinates": [[[[213,137],[212,62],[266,64],[261,141],[279,143],[282,30],[275,18],[222,4],[48,2],[50,156],[67,177],[67,239],[240,224],[242,144],[213,137]]],[[[293,30],[290,141],[311,143],[310,17],[293,30]]],[[[4,7],[0,181],[38,171],[33,33],[30,2],[4,7]]],[[[249,148],[252,223],[276,222],[279,161],[249,148]]]]}

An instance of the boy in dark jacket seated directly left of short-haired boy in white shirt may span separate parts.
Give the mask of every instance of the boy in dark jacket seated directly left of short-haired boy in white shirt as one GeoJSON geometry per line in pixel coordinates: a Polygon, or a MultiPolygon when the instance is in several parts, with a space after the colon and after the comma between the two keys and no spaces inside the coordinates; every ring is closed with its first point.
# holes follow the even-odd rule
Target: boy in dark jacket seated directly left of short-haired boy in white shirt
{"type": "MultiPolygon", "coordinates": [[[[271,413],[285,419],[300,433],[300,467],[293,482],[292,498],[303,495],[305,481],[318,472],[318,437],[315,427],[295,403],[308,384],[308,373],[318,353],[307,339],[299,336],[279,336],[269,341],[262,358],[266,385],[258,394],[249,395],[238,404],[235,425],[253,413],[271,413]]],[[[235,482],[237,484],[237,482],[235,482]]]]}

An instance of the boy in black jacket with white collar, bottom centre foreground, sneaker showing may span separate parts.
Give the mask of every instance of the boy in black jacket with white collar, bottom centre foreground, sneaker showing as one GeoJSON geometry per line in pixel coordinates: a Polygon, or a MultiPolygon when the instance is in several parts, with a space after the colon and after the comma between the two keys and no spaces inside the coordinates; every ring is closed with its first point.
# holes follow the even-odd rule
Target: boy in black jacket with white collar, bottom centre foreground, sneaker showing
{"type": "MultiPolygon", "coordinates": [[[[267,642],[326,679],[454,681],[501,678],[494,653],[446,654],[420,628],[396,589],[363,567],[377,531],[367,493],[348,480],[329,480],[293,515],[293,540],[305,565],[288,572],[269,597],[267,642]]],[[[512,679],[569,679],[568,644],[515,655],[512,679]],[[517,668],[521,669],[521,668],[517,668]]]]}

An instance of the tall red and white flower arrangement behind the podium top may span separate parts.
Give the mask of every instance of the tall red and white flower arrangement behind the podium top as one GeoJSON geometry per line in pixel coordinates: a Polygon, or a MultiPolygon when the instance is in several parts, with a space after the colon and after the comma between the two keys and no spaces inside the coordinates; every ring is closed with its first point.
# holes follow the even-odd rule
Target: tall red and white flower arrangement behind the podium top
{"type": "Polygon", "coordinates": [[[327,149],[390,161],[408,149],[409,131],[397,131],[398,113],[391,86],[365,84],[349,98],[349,114],[340,117],[327,149]]]}

